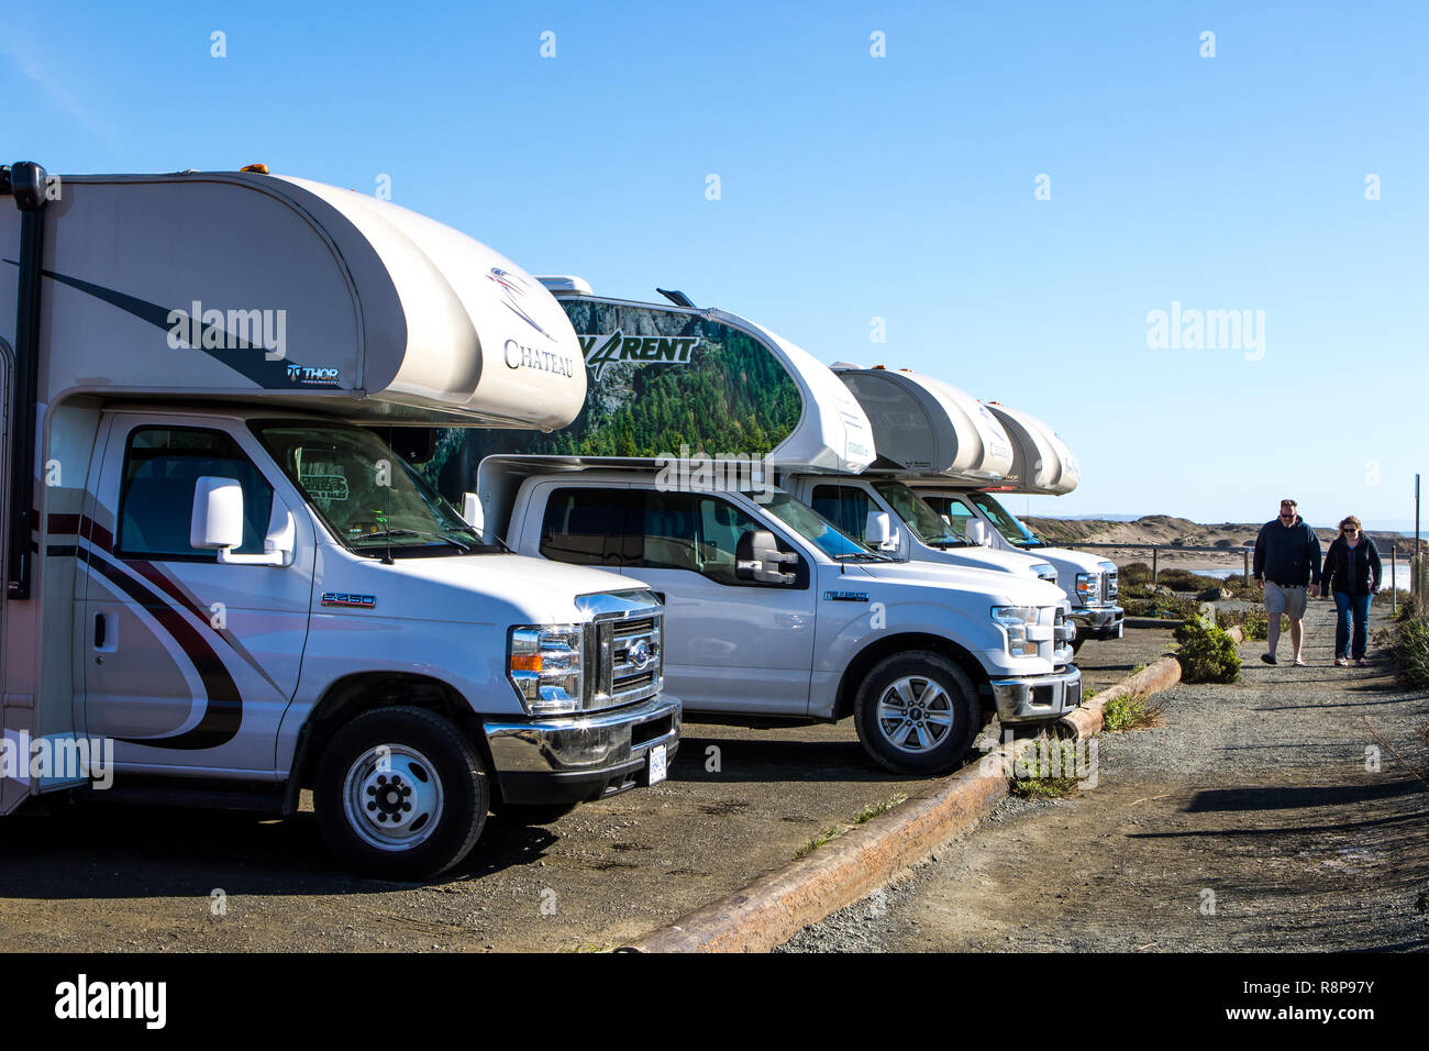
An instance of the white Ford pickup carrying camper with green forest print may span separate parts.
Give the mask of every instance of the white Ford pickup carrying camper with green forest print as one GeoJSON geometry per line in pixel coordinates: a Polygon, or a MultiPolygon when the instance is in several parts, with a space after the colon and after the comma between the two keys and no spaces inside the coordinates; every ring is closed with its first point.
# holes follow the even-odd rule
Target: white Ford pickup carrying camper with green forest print
{"type": "Polygon", "coordinates": [[[479,463],[484,526],[519,552],[652,588],[686,711],[852,715],[879,764],[935,772],[993,712],[1030,724],[1080,702],[1057,588],[873,552],[773,485],[777,469],[845,478],[873,458],[826,366],[677,293],[632,303],[543,280],[584,352],[584,413],[544,438],[466,432],[437,470],[454,496],[479,463]]]}

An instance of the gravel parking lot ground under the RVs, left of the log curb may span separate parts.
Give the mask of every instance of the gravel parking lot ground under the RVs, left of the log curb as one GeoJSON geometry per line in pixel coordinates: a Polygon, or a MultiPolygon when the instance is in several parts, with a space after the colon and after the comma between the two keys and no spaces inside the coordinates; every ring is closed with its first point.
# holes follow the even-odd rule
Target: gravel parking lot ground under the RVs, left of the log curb
{"type": "MultiPolygon", "coordinates": [[[[1089,682],[1110,682],[1155,659],[1166,639],[1147,631],[1087,642],[1079,662],[1089,682]]],[[[312,814],[21,814],[0,825],[0,951],[609,948],[739,889],[866,806],[930,784],[876,768],[847,719],[749,729],[692,718],[667,784],[549,827],[493,819],[472,857],[430,884],[336,869],[312,814]]]]}

